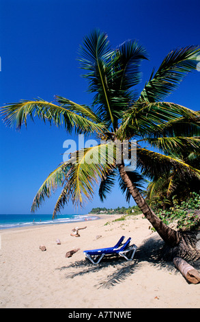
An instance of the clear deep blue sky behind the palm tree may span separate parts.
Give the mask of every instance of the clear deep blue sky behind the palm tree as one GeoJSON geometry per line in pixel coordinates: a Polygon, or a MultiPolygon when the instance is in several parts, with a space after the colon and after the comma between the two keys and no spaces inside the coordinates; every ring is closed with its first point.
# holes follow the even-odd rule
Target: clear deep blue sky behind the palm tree
{"type": "MultiPolygon", "coordinates": [[[[171,49],[200,43],[199,6],[199,0],[1,0],[0,106],[37,97],[52,101],[54,95],[89,104],[92,97],[76,58],[83,37],[95,28],[108,34],[114,48],[128,39],[145,46],[149,61],[141,68],[142,90],[171,49]]],[[[199,110],[199,85],[195,71],[168,101],[199,110]]],[[[39,120],[20,132],[1,121],[0,135],[0,212],[29,214],[38,188],[62,162],[63,141],[70,136],[39,120]]],[[[51,214],[57,197],[47,199],[38,213],[51,214]]],[[[84,210],[70,203],[62,213],[87,213],[96,206],[128,205],[115,187],[104,203],[96,193],[84,210]]]]}

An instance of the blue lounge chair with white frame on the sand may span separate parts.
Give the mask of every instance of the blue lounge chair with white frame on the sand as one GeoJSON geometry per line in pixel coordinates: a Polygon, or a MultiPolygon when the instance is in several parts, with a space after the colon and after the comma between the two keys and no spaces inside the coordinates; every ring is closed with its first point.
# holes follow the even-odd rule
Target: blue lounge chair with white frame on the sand
{"type": "Polygon", "coordinates": [[[100,249],[91,249],[87,251],[83,251],[85,256],[93,263],[98,264],[105,255],[119,255],[126,258],[126,260],[132,260],[134,257],[134,253],[137,249],[136,245],[130,246],[131,238],[126,240],[126,243],[120,247],[122,241],[124,240],[124,236],[122,236],[118,243],[113,247],[108,248],[100,248],[100,249]]]}

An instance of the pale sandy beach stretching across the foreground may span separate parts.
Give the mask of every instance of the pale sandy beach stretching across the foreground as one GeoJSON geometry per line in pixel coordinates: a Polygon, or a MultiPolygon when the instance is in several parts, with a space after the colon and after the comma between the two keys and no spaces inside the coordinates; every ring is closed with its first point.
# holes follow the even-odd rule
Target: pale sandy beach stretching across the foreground
{"type": "Polygon", "coordinates": [[[188,284],[172,263],[155,260],[162,240],[147,219],[113,222],[117,217],[1,230],[0,308],[200,308],[200,284],[188,284]],[[77,225],[87,228],[70,236],[77,225]],[[122,235],[138,247],[134,260],[96,266],[85,260],[83,250],[113,246],[122,235]]]}

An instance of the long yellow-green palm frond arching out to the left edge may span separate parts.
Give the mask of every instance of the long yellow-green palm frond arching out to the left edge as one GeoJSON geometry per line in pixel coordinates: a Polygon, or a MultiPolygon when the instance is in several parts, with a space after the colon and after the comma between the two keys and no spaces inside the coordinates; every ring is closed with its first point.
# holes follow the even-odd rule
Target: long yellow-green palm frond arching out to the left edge
{"type": "Polygon", "coordinates": [[[20,101],[20,103],[12,103],[1,108],[1,114],[4,116],[3,121],[8,126],[16,124],[16,128],[25,123],[27,125],[27,116],[31,120],[33,116],[38,116],[42,121],[53,122],[58,127],[63,125],[69,132],[75,128],[78,133],[85,132],[102,132],[104,129],[103,123],[94,123],[71,110],[67,110],[63,106],[57,106],[52,102],[47,102],[42,99],[35,101],[20,101]]]}

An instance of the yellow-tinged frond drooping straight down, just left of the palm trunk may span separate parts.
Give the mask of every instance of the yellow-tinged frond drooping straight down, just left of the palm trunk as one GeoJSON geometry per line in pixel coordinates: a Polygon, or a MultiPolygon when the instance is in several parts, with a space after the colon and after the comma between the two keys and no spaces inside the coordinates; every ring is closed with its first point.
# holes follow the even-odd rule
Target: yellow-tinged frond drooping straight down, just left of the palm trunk
{"type": "Polygon", "coordinates": [[[102,177],[115,168],[116,148],[112,142],[108,142],[83,149],[75,158],[76,162],[72,162],[68,180],[57,200],[54,216],[69,199],[74,206],[81,207],[92,199],[102,177]]]}

